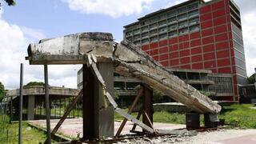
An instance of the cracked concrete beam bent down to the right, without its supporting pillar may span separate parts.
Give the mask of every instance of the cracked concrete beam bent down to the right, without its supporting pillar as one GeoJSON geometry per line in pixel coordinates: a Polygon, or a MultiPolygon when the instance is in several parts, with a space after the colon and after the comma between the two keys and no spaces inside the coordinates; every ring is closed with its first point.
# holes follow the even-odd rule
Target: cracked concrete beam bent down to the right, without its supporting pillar
{"type": "Polygon", "coordinates": [[[71,34],[41,40],[28,48],[30,64],[90,64],[114,62],[118,74],[139,78],[142,82],[174,98],[199,113],[218,113],[216,102],[201,94],[154,61],[138,46],[122,41],[115,43],[109,33],[71,34]],[[88,58],[90,57],[90,58],[88,58]]]}

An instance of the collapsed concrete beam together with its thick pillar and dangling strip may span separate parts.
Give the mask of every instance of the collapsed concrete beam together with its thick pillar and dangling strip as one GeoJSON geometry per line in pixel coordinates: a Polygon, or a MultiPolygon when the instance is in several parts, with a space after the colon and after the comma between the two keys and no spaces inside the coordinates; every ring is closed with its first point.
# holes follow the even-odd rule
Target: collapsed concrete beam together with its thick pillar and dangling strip
{"type": "MultiPolygon", "coordinates": [[[[84,65],[83,105],[86,107],[83,108],[84,110],[94,110],[94,112],[90,113],[88,110],[83,113],[83,116],[85,119],[86,116],[94,115],[95,122],[92,122],[96,126],[94,137],[112,136],[109,133],[114,131],[113,109],[126,119],[141,126],[142,129],[150,133],[154,132],[151,129],[152,126],[151,128],[145,126],[136,118],[132,118],[129,114],[120,110],[114,99],[111,98],[114,88],[114,71],[121,75],[138,78],[147,86],[162,91],[170,98],[182,102],[198,113],[216,114],[221,110],[221,106],[216,102],[174,76],[171,70],[154,61],[138,46],[134,46],[126,40],[118,44],[113,41],[112,34],[109,33],[81,33],[60,38],[43,39],[38,44],[30,44],[28,54],[27,59],[30,60],[32,65],[84,65]],[[86,66],[90,69],[88,70],[86,66]],[[104,98],[108,99],[112,106],[103,110],[102,107],[106,105],[104,98]]],[[[93,120],[90,118],[84,121],[87,126],[84,126],[84,130],[90,130],[91,121],[93,120]]],[[[90,131],[84,131],[84,138],[90,133],[90,131]]]]}

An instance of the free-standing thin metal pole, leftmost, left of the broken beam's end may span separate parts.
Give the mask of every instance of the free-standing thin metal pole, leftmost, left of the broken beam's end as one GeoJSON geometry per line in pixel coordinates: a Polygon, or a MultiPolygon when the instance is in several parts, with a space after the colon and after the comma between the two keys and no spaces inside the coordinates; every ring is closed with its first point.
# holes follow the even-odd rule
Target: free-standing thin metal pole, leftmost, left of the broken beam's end
{"type": "Polygon", "coordinates": [[[19,85],[19,122],[18,122],[18,143],[22,143],[22,102],[23,102],[23,63],[21,63],[20,85],[19,85]]]}

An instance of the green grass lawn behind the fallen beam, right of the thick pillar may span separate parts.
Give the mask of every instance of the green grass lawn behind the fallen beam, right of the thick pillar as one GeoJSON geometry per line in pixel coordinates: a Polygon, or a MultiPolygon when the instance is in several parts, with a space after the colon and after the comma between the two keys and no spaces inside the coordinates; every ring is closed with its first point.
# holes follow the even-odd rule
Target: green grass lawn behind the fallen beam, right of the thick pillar
{"type": "MultiPolygon", "coordinates": [[[[226,125],[231,127],[239,127],[239,128],[256,128],[256,109],[251,109],[253,107],[252,104],[242,104],[242,105],[231,105],[224,106],[222,108],[222,112],[218,114],[218,118],[225,119],[226,125]]],[[[128,111],[126,109],[126,111],[128,111]]],[[[137,116],[138,113],[132,113],[134,117],[137,116]]],[[[116,120],[122,120],[122,116],[115,113],[114,114],[116,120]]],[[[154,112],[154,122],[165,122],[165,123],[178,123],[185,124],[186,123],[186,115],[180,113],[170,113],[167,111],[157,111],[154,112]]],[[[203,124],[203,115],[200,117],[201,124],[203,124]]]]}

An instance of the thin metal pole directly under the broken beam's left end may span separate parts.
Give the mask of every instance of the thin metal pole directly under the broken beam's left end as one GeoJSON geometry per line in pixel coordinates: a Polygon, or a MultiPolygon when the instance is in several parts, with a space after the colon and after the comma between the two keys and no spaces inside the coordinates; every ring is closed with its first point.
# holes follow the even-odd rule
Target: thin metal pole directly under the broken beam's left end
{"type": "Polygon", "coordinates": [[[45,70],[45,92],[46,92],[46,127],[47,127],[47,143],[50,144],[50,106],[49,106],[49,84],[48,84],[48,67],[44,65],[45,70]]]}

